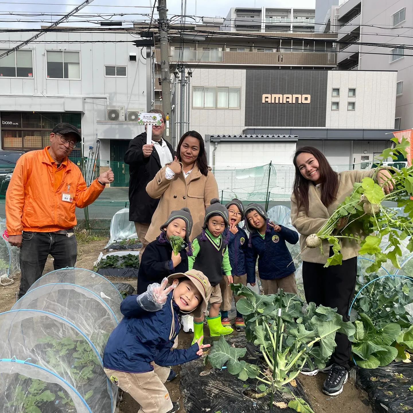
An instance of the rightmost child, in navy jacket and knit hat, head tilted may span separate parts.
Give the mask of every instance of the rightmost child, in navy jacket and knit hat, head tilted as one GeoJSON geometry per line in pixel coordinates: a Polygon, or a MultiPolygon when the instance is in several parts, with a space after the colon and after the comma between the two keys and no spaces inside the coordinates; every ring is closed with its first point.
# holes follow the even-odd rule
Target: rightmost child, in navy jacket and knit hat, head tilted
{"type": "Polygon", "coordinates": [[[245,209],[245,224],[249,231],[247,249],[247,281],[255,281],[255,264],[258,258],[258,275],[264,294],[276,294],[278,288],[297,294],[295,267],[285,242],[297,244],[298,234],[268,220],[259,204],[249,204],[245,209]]]}

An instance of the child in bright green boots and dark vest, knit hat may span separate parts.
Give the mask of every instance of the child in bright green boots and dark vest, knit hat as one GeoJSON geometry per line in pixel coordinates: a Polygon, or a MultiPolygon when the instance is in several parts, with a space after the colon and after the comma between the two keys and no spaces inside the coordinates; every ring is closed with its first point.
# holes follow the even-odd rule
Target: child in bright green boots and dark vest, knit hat
{"type": "MultiPolygon", "coordinates": [[[[234,331],[230,326],[224,327],[222,325],[221,316],[219,315],[222,303],[219,283],[223,278],[228,284],[233,282],[228,256],[228,239],[224,239],[222,236],[228,226],[228,210],[220,204],[219,199],[211,199],[211,205],[205,210],[202,233],[192,241],[193,254],[188,259],[188,268],[202,271],[208,277],[212,286],[209,299],[211,307],[209,317],[207,317],[211,337],[231,334],[234,331]]],[[[204,314],[199,318],[194,317],[194,339],[192,342],[195,343],[203,334],[204,314]]]]}

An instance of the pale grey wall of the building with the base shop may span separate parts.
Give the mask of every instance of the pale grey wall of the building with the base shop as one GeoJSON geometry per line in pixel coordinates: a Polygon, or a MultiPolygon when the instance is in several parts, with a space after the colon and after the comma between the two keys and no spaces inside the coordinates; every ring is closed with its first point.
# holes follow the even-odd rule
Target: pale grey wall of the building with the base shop
{"type": "MultiPolygon", "coordinates": [[[[26,33],[2,33],[0,40],[6,43],[0,49],[11,48],[26,37],[26,33]]],[[[134,132],[124,135],[122,128],[114,131],[116,125],[107,126],[112,133],[102,134],[97,121],[105,121],[108,105],[125,106],[125,114],[128,107],[146,108],[146,61],[139,48],[127,43],[135,37],[124,33],[56,32],[46,33],[43,39],[45,43],[24,47],[33,50],[32,78],[0,77],[0,111],[81,112],[86,152],[89,145],[95,145],[96,138],[133,138],[134,132]],[[64,43],[69,39],[108,43],[64,43]],[[46,50],[80,51],[80,80],[47,78],[46,50]],[[129,53],[136,53],[136,62],[129,61],[129,53]],[[127,66],[127,76],[106,77],[105,65],[127,66]]],[[[109,159],[109,140],[102,139],[100,148],[101,158],[109,159]]]]}

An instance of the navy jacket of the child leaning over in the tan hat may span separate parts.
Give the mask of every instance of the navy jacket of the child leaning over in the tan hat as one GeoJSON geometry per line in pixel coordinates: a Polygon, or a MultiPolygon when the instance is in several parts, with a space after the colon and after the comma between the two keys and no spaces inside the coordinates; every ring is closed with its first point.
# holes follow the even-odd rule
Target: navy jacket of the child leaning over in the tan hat
{"type": "Polygon", "coordinates": [[[173,291],[159,311],[146,311],[129,295],[121,304],[123,318],[112,331],[103,352],[103,366],[127,373],[147,373],[150,364],[177,366],[198,358],[199,346],[172,349],[179,332],[179,307],[173,301],[173,291]],[[172,304],[172,305],[171,305],[172,304]]]}

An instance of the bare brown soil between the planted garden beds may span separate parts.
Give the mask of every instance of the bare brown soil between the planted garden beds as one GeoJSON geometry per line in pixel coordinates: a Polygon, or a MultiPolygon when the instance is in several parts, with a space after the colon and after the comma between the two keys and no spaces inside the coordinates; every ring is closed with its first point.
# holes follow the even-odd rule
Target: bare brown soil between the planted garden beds
{"type": "MultiPolygon", "coordinates": [[[[93,269],[93,262],[96,261],[99,253],[104,249],[107,240],[91,241],[85,244],[78,245],[78,260],[76,266],[88,270],[93,269]]],[[[51,257],[47,259],[44,273],[53,271],[53,261],[51,257]]],[[[119,282],[119,278],[109,278],[112,282],[119,282]]],[[[136,278],[122,278],[121,282],[128,282],[133,287],[136,287],[136,278]]],[[[7,287],[0,287],[0,312],[8,311],[16,302],[16,293],[19,291],[20,279],[16,278],[14,284],[7,287]]],[[[208,333],[208,329],[205,329],[208,333]]],[[[192,337],[183,331],[179,334],[180,348],[188,348],[191,344],[192,337]]],[[[166,387],[171,394],[173,401],[178,400],[182,406],[182,397],[179,391],[180,375],[179,368],[174,368],[178,372],[178,376],[173,382],[166,383],[166,387]]],[[[321,392],[323,381],[326,375],[319,373],[316,376],[302,376],[299,377],[308,398],[313,406],[315,413],[335,413],[335,412],[357,412],[357,413],[371,413],[371,408],[368,404],[368,397],[365,393],[356,389],[354,380],[349,380],[344,386],[344,392],[336,397],[328,397],[321,392]]],[[[136,413],[139,410],[139,405],[128,395],[123,394],[122,401],[119,403],[119,413],[136,413]]],[[[180,408],[180,413],[185,413],[184,408],[180,408]]],[[[201,413],[201,412],[200,412],[201,413]]],[[[215,412],[210,412],[215,413],[215,412]]],[[[222,411],[222,413],[225,413],[222,411]]]]}

